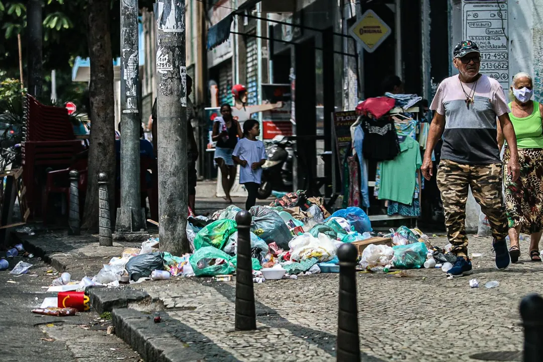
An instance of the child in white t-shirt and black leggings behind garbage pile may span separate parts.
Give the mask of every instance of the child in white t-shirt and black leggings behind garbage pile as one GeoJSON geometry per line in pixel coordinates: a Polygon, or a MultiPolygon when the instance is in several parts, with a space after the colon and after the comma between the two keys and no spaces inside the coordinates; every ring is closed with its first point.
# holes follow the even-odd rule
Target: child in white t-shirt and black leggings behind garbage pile
{"type": "Polygon", "coordinates": [[[264,143],[256,139],[260,135],[258,121],[249,119],[243,124],[244,138],[236,144],[232,153],[234,162],[241,165],[239,169],[239,183],[247,189],[247,202],[245,209],[249,210],[256,204],[256,195],[262,180],[262,165],[266,162],[266,148],[264,143]]]}

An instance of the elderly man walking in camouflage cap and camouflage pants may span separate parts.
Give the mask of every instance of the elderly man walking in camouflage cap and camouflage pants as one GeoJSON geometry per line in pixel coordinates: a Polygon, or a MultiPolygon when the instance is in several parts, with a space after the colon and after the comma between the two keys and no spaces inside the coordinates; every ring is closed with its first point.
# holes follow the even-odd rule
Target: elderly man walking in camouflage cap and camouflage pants
{"type": "Polygon", "coordinates": [[[496,268],[507,269],[511,262],[507,250],[507,218],[502,200],[502,165],[497,144],[496,117],[511,151],[508,163],[513,180],[519,177],[519,158],[509,107],[500,84],[479,74],[481,53],[476,43],[466,40],[454,47],[454,67],[458,75],[446,78],[438,87],[430,106],[435,111],[422,174],[433,176],[432,151],[443,135],[437,184],[445,213],[447,237],[457,261],[448,274],[471,274],[465,209],[468,187],[482,212],[487,215],[496,253],[496,268]]]}

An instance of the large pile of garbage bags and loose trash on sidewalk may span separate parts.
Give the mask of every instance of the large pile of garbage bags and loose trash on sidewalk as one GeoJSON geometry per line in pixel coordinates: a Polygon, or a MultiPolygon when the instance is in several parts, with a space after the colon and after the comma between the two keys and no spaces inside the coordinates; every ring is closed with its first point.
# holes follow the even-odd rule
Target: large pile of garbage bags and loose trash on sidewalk
{"type": "MultiPolygon", "coordinates": [[[[216,277],[235,274],[237,265],[236,215],[241,209],[230,205],[210,218],[191,215],[187,238],[191,253],[181,257],[160,252],[159,239],[144,242],[141,248],[128,248],[112,258],[93,282],[115,285],[119,282],[166,279],[176,276],[216,277]]],[[[422,268],[428,255],[428,238],[418,229],[405,226],[376,234],[363,209],[348,207],[330,214],[321,198],[307,198],[304,192],[287,193],[269,206],[254,206],[250,242],[255,281],[265,280],[267,270],[284,269],[285,276],[338,272],[338,247],[344,243],[374,236],[392,238],[392,246],[369,244],[359,256],[359,268],[386,271],[389,268],[422,268]]],[[[445,258],[445,253],[436,253],[445,258]]]]}

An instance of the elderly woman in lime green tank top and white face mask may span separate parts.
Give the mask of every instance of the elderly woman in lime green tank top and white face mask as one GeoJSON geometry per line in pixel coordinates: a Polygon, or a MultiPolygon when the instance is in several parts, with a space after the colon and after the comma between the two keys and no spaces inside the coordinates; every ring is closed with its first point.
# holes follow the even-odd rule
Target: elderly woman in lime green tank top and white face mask
{"type": "Polygon", "coordinates": [[[511,262],[519,261],[519,234],[528,233],[529,256],[532,261],[540,262],[539,240],[543,226],[543,106],[531,99],[532,77],[527,73],[513,77],[510,93],[514,99],[509,103],[509,118],[515,128],[520,177],[513,182],[509,175],[507,162],[510,154],[506,144],[503,152],[503,182],[511,243],[509,255],[511,262]]]}

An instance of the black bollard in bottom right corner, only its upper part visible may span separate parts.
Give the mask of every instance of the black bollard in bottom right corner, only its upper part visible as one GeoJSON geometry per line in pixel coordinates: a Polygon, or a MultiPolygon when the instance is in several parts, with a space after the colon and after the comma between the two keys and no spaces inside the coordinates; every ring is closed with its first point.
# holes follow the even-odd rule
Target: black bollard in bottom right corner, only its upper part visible
{"type": "Polygon", "coordinates": [[[520,316],[524,326],[524,362],[539,362],[543,359],[543,298],[531,294],[520,302],[520,316]]]}

